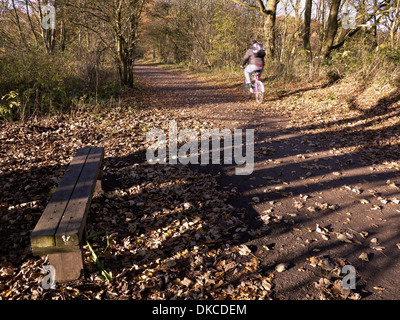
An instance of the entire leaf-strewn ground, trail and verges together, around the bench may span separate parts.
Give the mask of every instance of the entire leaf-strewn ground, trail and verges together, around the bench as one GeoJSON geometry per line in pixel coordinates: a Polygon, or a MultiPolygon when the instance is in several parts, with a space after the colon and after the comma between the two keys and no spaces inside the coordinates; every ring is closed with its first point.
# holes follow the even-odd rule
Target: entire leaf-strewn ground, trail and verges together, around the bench
{"type": "Polygon", "coordinates": [[[0,299],[398,299],[398,90],[265,81],[257,106],[235,84],[135,68],[140,90],[108,108],[0,123],[0,299]],[[147,133],[171,123],[254,129],[252,173],[149,164],[147,133]],[[85,277],[45,290],[30,233],[87,145],[105,148],[87,231],[113,281],[84,246],[85,277]]]}

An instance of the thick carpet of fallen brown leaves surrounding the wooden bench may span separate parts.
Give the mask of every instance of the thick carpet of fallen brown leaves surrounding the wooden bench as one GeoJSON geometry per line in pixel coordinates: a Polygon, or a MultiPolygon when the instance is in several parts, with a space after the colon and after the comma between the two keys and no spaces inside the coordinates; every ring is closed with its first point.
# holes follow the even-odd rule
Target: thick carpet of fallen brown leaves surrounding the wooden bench
{"type": "MultiPolygon", "coordinates": [[[[189,113],[184,116],[186,120],[178,121],[182,127],[213,127],[189,113]]],[[[124,109],[95,117],[81,114],[3,125],[0,152],[7,157],[1,158],[0,169],[0,228],[6,244],[1,252],[2,298],[268,297],[273,286],[261,274],[260,260],[247,246],[236,244],[239,234],[247,232],[241,213],[227,203],[237,190],[221,190],[215,177],[187,166],[144,161],[145,133],[176,117],[161,109],[124,109]],[[89,235],[108,232],[106,252],[101,237],[93,238],[91,245],[114,281],[102,280],[86,252],[84,280],[46,291],[40,285],[40,267],[46,261],[29,255],[29,232],[71,156],[85,144],[100,144],[106,150],[104,190],[92,200],[87,228],[89,235]]]]}

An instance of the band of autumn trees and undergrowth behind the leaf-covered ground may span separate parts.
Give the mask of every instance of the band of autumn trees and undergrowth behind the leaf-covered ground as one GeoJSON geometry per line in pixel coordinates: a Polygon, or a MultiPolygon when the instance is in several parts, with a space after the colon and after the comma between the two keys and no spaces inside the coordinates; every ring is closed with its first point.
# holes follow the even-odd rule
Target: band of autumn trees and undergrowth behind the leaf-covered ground
{"type": "Polygon", "coordinates": [[[270,77],[398,78],[398,1],[60,0],[49,3],[54,28],[44,29],[46,5],[1,2],[3,119],[113,104],[134,86],[138,57],[238,73],[253,38],[267,50],[270,77]]]}

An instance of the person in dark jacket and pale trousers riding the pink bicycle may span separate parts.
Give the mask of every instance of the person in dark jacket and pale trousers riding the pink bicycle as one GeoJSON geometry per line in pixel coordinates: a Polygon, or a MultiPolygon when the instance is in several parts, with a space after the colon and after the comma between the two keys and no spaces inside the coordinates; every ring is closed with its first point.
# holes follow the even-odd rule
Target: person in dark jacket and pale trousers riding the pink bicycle
{"type": "Polygon", "coordinates": [[[247,49],[240,66],[240,68],[244,69],[246,85],[251,84],[250,76],[253,72],[258,72],[258,74],[261,75],[262,71],[264,70],[264,56],[265,51],[262,45],[256,40],[251,40],[249,42],[249,49],[247,49]],[[246,63],[249,64],[247,67],[244,67],[246,63]]]}

